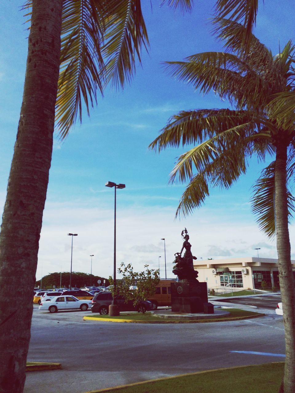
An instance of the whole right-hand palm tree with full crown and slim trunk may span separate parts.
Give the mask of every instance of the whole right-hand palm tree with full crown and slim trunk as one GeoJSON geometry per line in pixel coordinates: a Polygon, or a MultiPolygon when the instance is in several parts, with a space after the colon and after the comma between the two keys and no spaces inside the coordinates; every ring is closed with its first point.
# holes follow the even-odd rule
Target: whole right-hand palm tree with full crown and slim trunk
{"type": "Polygon", "coordinates": [[[269,106],[275,94],[295,90],[294,46],[289,41],[273,56],[251,35],[245,53],[245,28],[216,18],[214,32],[230,52],[197,53],[182,62],[166,62],[168,71],[195,89],[214,90],[235,109],[197,109],[172,116],[150,144],[154,150],[193,145],[181,154],[170,177],[188,185],[176,216],[200,207],[212,187],[228,189],[246,173],[253,155],[273,157],[255,184],[253,211],[260,228],[277,237],[280,289],[284,307],[286,362],[281,392],[295,391],[295,292],[290,256],[288,219],[294,198],[287,189],[295,165],[294,112],[278,122],[269,106]]]}

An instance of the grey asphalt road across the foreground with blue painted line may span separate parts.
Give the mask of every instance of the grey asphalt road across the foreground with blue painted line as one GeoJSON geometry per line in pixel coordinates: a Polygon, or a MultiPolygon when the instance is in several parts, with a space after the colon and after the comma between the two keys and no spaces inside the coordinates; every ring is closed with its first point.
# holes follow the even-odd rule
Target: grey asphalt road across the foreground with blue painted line
{"type": "Polygon", "coordinates": [[[284,327],[274,309],[251,320],[163,325],[83,321],[85,314],[91,312],[49,314],[34,307],[28,361],[58,362],[64,371],[27,373],[25,393],[81,393],[284,360],[284,327]],[[56,378],[62,388],[50,382],[56,378]]]}

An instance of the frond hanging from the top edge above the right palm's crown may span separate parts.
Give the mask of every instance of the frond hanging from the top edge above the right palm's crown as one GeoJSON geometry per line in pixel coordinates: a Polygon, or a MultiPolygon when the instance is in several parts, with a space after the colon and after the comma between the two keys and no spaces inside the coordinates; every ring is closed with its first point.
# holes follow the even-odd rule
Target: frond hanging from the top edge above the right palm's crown
{"type": "Polygon", "coordinates": [[[257,11],[258,0],[218,0],[215,5],[216,16],[234,20],[245,27],[242,37],[245,52],[250,48],[257,11]]]}

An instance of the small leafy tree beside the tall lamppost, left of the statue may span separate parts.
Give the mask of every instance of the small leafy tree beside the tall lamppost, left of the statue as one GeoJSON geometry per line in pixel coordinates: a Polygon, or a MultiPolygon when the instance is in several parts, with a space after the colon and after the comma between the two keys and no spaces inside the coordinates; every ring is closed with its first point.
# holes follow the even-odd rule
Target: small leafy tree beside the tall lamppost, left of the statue
{"type": "MultiPolygon", "coordinates": [[[[149,265],[144,265],[144,267],[145,270],[140,273],[133,271],[131,263],[125,265],[122,262],[118,268],[118,273],[123,275],[123,279],[116,281],[116,295],[123,296],[126,303],[133,300],[133,304],[136,305],[155,294],[156,286],[159,283],[159,269],[149,269],[149,265]],[[136,289],[130,289],[133,287],[136,289]]],[[[110,285],[114,285],[112,277],[109,277],[109,282],[110,285]]],[[[114,296],[114,286],[112,288],[114,296]]],[[[144,307],[142,307],[142,312],[145,312],[144,307]]]]}

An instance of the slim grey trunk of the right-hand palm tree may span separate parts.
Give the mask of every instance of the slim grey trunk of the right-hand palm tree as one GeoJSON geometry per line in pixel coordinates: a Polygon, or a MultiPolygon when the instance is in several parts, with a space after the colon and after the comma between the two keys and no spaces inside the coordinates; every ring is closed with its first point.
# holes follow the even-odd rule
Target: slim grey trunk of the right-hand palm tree
{"type": "Polygon", "coordinates": [[[288,231],[288,205],[286,189],[287,144],[277,145],[275,164],[275,217],[277,230],[278,269],[283,305],[286,360],[280,393],[295,391],[295,292],[291,265],[291,247],[288,231]]]}

